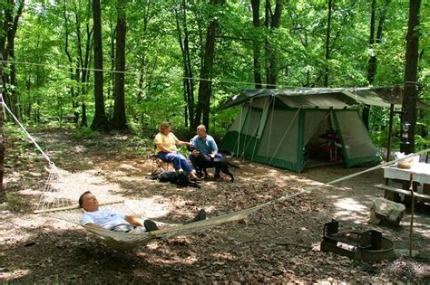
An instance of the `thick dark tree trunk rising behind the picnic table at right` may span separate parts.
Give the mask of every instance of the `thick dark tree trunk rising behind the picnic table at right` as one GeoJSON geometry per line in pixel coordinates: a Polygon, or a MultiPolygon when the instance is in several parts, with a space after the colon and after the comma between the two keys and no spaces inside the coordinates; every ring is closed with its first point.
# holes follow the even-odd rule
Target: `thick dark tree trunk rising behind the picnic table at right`
{"type": "Polygon", "coordinates": [[[406,154],[415,152],[415,125],[416,125],[416,99],[418,95],[418,43],[419,43],[419,16],[421,0],[409,1],[409,21],[406,34],[406,67],[405,87],[402,101],[403,122],[411,124],[408,131],[410,144],[401,144],[400,151],[406,154]]]}

